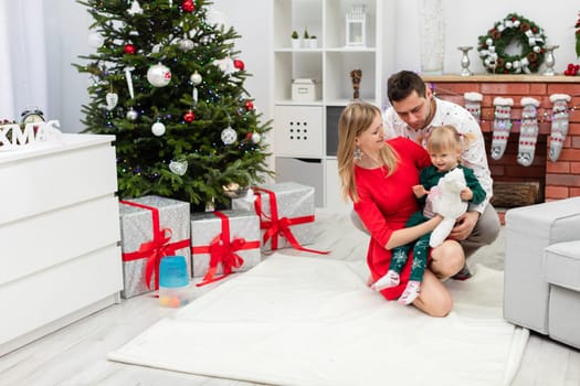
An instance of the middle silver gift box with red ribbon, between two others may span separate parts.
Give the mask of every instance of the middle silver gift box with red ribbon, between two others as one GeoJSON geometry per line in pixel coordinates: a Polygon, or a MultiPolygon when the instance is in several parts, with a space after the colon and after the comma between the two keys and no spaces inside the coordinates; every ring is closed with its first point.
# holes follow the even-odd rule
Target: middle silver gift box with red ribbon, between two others
{"type": "Polygon", "coordinates": [[[191,215],[193,277],[205,276],[212,258],[217,264],[214,271],[217,275],[224,272],[223,264],[228,265],[232,272],[247,270],[257,265],[262,260],[257,215],[253,212],[234,210],[193,213],[191,215]]]}

